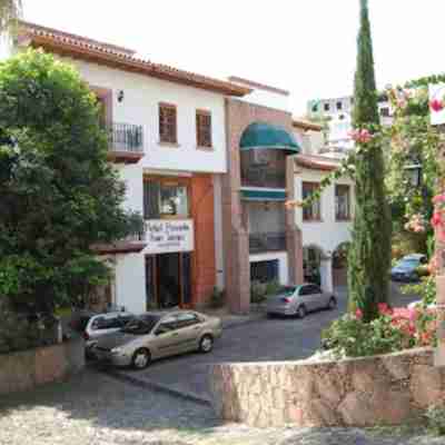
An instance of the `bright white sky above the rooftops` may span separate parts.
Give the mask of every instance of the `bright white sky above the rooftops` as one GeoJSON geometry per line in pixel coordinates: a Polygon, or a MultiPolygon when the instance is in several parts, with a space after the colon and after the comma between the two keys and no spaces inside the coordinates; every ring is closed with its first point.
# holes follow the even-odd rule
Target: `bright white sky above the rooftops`
{"type": "MultiPolygon", "coordinates": [[[[444,0],[369,0],[378,87],[445,71],[444,0]]],[[[154,62],[287,89],[353,92],[358,0],[23,0],[24,19],[132,48],[154,62]]]]}

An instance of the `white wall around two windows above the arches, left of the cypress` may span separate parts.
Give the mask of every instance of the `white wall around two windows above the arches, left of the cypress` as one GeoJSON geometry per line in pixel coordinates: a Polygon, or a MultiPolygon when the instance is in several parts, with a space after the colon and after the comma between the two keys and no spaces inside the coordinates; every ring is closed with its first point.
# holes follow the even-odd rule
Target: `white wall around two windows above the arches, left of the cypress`
{"type": "MultiPolygon", "coordinates": [[[[295,174],[295,197],[301,200],[303,181],[319,182],[328,172],[309,170],[297,167],[298,172],[295,174]]],[[[350,210],[354,216],[355,190],[354,184],[348,178],[342,178],[335,184],[350,186],[350,210]]],[[[322,195],[322,221],[304,221],[303,209],[297,207],[296,224],[301,229],[303,246],[315,245],[327,253],[333,253],[338,245],[350,240],[350,230],[353,221],[336,221],[335,219],[335,184],[327,187],[322,195]]]]}

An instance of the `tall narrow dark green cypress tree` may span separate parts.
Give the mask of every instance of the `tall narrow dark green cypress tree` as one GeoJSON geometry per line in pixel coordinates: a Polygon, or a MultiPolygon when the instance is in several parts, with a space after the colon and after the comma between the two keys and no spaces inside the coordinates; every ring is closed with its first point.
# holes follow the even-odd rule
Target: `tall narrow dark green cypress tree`
{"type": "MultiPolygon", "coordinates": [[[[379,130],[373,42],[367,0],[360,0],[360,29],[357,39],[357,71],[353,122],[356,130],[379,130]]],[[[369,322],[378,304],[388,301],[390,267],[390,217],[384,188],[382,147],[357,142],[356,207],[353,241],[348,258],[349,310],[363,312],[369,322]]]]}

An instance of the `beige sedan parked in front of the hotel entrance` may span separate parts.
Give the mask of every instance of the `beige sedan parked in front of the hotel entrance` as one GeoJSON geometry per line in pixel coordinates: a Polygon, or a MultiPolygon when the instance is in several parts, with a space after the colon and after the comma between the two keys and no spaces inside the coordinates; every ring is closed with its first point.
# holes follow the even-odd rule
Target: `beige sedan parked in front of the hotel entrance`
{"type": "Polygon", "coordinates": [[[115,366],[146,368],[151,360],[188,352],[210,353],[222,334],[219,318],[192,310],[152,312],[99,339],[93,354],[115,366]]]}

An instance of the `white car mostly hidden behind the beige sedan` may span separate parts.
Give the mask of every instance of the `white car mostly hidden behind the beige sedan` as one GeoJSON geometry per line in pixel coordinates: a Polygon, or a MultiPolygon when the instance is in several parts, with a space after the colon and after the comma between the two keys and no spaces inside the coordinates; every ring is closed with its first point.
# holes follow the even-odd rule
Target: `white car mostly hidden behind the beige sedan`
{"type": "Polygon", "coordinates": [[[86,342],[87,356],[98,339],[105,335],[118,333],[128,322],[135,318],[134,314],[126,312],[92,313],[79,310],[73,314],[69,327],[80,334],[86,342]]]}

